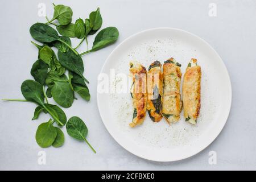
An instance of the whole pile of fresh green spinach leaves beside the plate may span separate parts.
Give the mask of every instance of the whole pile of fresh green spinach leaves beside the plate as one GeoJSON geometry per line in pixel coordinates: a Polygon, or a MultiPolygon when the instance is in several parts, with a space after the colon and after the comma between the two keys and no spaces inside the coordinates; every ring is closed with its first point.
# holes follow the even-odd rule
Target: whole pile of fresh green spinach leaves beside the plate
{"type": "Polygon", "coordinates": [[[38,119],[41,113],[49,114],[51,119],[41,123],[36,130],[35,139],[40,147],[62,146],[64,133],[60,128],[67,123],[67,133],[77,140],[84,140],[96,153],[86,140],[88,128],[82,119],[74,116],[67,122],[64,111],[57,105],[49,104],[48,98],[53,98],[58,105],[65,108],[72,106],[76,94],[89,101],[90,92],[86,85],[89,81],[83,75],[84,63],[81,56],[114,43],[118,39],[119,32],[115,27],[102,29],[96,35],[92,48],[79,53],[76,49],[84,40],[88,48],[88,36],[96,34],[102,26],[100,9],[92,11],[89,18],[79,18],[72,23],[71,7],[54,4],[53,6],[54,14],[51,20],[46,16],[46,23],[35,23],[30,27],[32,38],[40,43],[31,41],[38,49],[38,57],[30,71],[34,80],[23,81],[20,88],[26,100],[3,100],[36,104],[32,120],[38,119]],[[57,31],[50,25],[56,27],[57,31]],[[71,38],[81,39],[80,43],[72,47],[71,38]],[[57,53],[53,49],[57,49],[57,53]]]}

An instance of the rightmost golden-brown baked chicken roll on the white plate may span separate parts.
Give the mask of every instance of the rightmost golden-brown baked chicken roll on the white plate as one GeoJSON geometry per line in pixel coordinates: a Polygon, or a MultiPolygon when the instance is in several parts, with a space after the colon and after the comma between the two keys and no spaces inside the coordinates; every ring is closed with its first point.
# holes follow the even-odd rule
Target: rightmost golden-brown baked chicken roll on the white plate
{"type": "Polygon", "coordinates": [[[185,121],[196,124],[200,111],[201,67],[196,59],[191,59],[184,74],[183,104],[185,121]]]}

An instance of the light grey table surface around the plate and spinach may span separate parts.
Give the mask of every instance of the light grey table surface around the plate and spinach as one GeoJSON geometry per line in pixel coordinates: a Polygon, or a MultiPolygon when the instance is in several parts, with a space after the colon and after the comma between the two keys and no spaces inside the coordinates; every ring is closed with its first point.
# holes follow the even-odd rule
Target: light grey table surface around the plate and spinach
{"type": "MultiPolygon", "coordinates": [[[[38,4],[46,4],[49,17],[53,1],[0,2],[0,98],[23,98],[22,81],[32,78],[30,69],[38,56],[29,34],[31,24],[45,22],[38,16],[38,4]]],[[[77,115],[89,127],[88,140],[97,150],[93,154],[85,143],[68,136],[61,148],[40,148],[35,141],[38,121],[31,121],[35,105],[0,102],[0,169],[256,169],[256,1],[54,1],[73,9],[73,20],[87,18],[101,8],[102,27],[118,27],[118,42],[83,57],[85,76],[90,80],[91,100],[77,100],[67,117],[77,115]],[[209,16],[209,3],[216,3],[217,16],[209,16]],[[232,82],[232,108],[228,121],[216,140],[205,150],[178,162],[151,162],[119,146],[103,125],[96,102],[97,75],[109,53],[125,38],[154,27],[175,27],[206,40],[222,57],[232,82]],[[46,165],[38,164],[38,152],[46,152],[46,165]],[[209,152],[216,151],[217,164],[208,163],[209,152]]],[[[92,44],[93,36],[89,39],[92,44]]],[[[73,41],[73,45],[77,41],[73,41]]],[[[86,48],[85,44],[79,51],[86,48]]],[[[156,154],[157,155],[157,154],[156,154]]],[[[171,155],[171,154],[170,154],[171,155]]]]}

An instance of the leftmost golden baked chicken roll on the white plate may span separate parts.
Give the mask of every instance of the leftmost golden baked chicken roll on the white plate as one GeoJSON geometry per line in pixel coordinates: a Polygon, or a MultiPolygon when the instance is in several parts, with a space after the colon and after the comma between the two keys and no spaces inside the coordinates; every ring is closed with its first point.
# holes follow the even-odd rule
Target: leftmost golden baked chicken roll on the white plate
{"type": "Polygon", "coordinates": [[[147,109],[147,70],[136,61],[130,62],[130,73],[133,76],[131,97],[133,98],[133,121],[130,127],[141,125],[146,116],[147,109]]]}

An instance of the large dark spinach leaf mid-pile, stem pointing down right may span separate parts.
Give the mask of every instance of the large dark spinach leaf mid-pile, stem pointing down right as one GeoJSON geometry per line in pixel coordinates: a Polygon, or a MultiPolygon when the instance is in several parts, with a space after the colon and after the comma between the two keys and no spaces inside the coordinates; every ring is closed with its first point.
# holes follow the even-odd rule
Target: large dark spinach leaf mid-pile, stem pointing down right
{"type": "Polygon", "coordinates": [[[82,73],[84,73],[84,63],[82,62],[80,55],[75,55],[75,53],[68,50],[67,52],[58,51],[58,57],[60,64],[63,65],[63,67],[67,68],[69,71],[77,73],[77,75],[81,76],[89,83],[89,81],[82,75],[82,73]]]}

